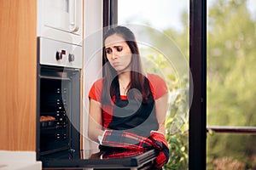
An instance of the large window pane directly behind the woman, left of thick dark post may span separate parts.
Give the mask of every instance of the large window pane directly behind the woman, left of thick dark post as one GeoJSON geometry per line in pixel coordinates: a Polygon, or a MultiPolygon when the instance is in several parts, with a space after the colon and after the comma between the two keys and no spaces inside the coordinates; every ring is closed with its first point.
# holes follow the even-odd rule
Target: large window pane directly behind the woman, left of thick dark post
{"type": "Polygon", "coordinates": [[[118,25],[135,33],[144,71],[163,77],[169,89],[165,169],[188,169],[189,0],[118,1],[118,25]]]}

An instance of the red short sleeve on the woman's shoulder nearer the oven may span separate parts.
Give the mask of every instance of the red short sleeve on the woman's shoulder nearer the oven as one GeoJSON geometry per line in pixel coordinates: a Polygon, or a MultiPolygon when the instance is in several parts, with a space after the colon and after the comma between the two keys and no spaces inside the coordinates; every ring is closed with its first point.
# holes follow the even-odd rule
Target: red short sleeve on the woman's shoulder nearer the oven
{"type": "Polygon", "coordinates": [[[88,95],[89,99],[94,99],[98,102],[101,102],[102,98],[102,79],[94,82],[90,88],[90,92],[88,95]]]}

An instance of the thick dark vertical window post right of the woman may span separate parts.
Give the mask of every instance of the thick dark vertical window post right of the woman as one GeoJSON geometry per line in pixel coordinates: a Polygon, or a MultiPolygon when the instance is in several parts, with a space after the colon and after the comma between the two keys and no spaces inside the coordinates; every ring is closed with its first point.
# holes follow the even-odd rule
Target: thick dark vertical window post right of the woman
{"type": "Polygon", "coordinates": [[[207,1],[189,1],[189,169],[207,168],[207,1]]]}

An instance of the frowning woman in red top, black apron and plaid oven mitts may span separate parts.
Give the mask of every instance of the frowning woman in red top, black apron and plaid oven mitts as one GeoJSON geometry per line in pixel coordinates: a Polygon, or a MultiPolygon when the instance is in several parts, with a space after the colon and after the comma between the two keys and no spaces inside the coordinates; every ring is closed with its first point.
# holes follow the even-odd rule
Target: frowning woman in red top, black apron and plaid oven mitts
{"type": "Polygon", "coordinates": [[[104,77],[89,94],[89,137],[101,145],[128,150],[158,148],[155,167],[160,169],[169,156],[166,82],[143,74],[136,38],[125,26],[109,29],[103,42],[104,77]]]}

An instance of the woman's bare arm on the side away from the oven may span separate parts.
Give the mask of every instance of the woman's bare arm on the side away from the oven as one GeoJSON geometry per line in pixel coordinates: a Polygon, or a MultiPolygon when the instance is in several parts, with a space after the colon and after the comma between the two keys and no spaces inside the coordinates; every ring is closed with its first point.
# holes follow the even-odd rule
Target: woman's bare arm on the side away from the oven
{"type": "Polygon", "coordinates": [[[168,94],[164,94],[159,99],[155,100],[155,112],[156,112],[156,118],[157,122],[159,123],[159,129],[161,133],[166,134],[166,111],[168,109],[168,94]]]}

